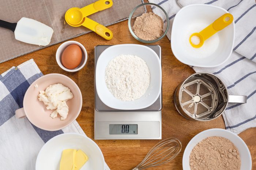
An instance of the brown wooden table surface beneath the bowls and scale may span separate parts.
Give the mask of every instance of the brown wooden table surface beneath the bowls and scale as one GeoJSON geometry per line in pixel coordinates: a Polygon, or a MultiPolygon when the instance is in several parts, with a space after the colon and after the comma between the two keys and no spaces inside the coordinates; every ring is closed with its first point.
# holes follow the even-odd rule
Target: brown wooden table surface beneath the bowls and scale
{"type": "MultiPolygon", "coordinates": [[[[94,140],[94,47],[108,44],[143,44],[135,40],[128,29],[128,22],[123,21],[108,27],[114,33],[112,40],[107,41],[89,33],[72,40],[84,45],[88,53],[86,66],[75,73],[62,70],[56,60],[55,53],[60,44],[9,60],[0,64],[0,73],[11,66],[34,59],[42,73],[60,73],[69,76],[79,86],[83,96],[83,106],[76,119],[86,135],[94,140]]],[[[189,66],[179,62],[172,53],[167,37],[157,43],[162,47],[162,139],[175,137],[182,142],[182,151],[173,161],[151,169],[177,170],[182,169],[182,154],[188,142],[198,133],[211,128],[224,129],[222,116],[210,122],[197,122],[183,118],[178,114],[173,103],[173,94],[183,80],[194,71],[189,66]]],[[[245,130],[239,136],[248,145],[252,155],[253,168],[256,169],[256,128],[245,130]]],[[[112,170],[129,170],[138,165],[147,152],[160,140],[94,140],[101,148],[105,161],[112,170]]]]}

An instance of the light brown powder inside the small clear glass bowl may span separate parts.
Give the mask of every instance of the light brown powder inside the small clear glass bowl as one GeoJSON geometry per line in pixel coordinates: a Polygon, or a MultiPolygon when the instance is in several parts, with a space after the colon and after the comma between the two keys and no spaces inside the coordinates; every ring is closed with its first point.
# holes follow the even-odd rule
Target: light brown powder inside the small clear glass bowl
{"type": "Polygon", "coordinates": [[[153,12],[143,13],[136,17],[133,24],[134,33],[142,40],[151,41],[161,37],[163,19],[153,12]]]}

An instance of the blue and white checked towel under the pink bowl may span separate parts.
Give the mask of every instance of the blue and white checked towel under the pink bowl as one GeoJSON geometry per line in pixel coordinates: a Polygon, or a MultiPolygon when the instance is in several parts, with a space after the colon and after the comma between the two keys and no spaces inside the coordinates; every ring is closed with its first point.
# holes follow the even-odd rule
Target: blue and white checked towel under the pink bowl
{"type": "MultiPolygon", "coordinates": [[[[27,118],[17,119],[15,110],[23,107],[27,88],[43,76],[33,59],[0,75],[0,169],[34,170],[37,154],[49,139],[63,133],[84,131],[76,120],[58,131],[35,127],[27,118]]],[[[106,170],[109,170],[105,163],[106,170]]]]}

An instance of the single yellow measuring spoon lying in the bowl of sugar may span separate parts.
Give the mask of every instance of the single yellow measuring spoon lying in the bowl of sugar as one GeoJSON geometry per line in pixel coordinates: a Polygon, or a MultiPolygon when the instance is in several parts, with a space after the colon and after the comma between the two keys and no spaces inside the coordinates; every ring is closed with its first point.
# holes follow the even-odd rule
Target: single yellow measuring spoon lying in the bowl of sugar
{"type": "Polygon", "coordinates": [[[189,43],[194,48],[202,47],[205,40],[214,35],[216,32],[221,31],[232,22],[233,15],[231,15],[230,13],[225,13],[199,33],[192,33],[192,35],[189,37],[189,43]]]}

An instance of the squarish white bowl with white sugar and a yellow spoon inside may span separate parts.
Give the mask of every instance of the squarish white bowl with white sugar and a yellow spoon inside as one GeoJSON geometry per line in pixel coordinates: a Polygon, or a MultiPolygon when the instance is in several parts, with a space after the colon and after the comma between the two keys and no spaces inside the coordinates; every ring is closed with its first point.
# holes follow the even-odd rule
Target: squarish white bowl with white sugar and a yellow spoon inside
{"type": "MultiPolygon", "coordinates": [[[[217,67],[226,62],[226,60],[230,57],[234,46],[234,21],[226,28],[217,32],[217,35],[214,35],[219,36],[219,45],[216,47],[216,50],[208,56],[205,51],[200,51],[200,57],[199,55],[194,56],[195,54],[192,54],[191,52],[191,50],[194,51],[191,49],[193,47],[189,46],[190,44],[188,36],[190,33],[189,30],[193,29],[191,27],[195,27],[201,23],[206,24],[206,26],[210,25],[225,13],[229,12],[223,8],[206,4],[194,4],[181,8],[180,11],[177,12],[172,26],[171,46],[174,56],[184,64],[197,67],[217,67]]],[[[210,37],[206,41],[208,41],[208,43],[213,43],[213,39],[211,38],[214,37],[210,37]]],[[[218,37],[215,38],[218,40],[218,37]]],[[[206,41],[204,43],[206,43],[206,41]]],[[[204,46],[200,47],[200,49],[196,48],[197,52],[198,50],[203,50],[203,47],[204,46]]],[[[211,51],[211,49],[212,48],[208,48],[207,51],[211,51]]]]}

